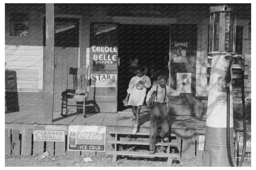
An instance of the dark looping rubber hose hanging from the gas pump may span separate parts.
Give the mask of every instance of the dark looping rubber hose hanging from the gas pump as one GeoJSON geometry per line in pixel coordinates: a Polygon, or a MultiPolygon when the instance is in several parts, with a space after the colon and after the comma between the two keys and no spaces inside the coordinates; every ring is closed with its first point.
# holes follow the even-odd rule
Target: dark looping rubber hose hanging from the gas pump
{"type": "Polygon", "coordinates": [[[230,147],[230,81],[231,81],[231,65],[235,60],[241,60],[241,93],[242,93],[242,120],[243,120],[243,132],[244,132],[244,141],[243,141],[243,147],[242,147],[242,158],[238,163],[238,166],[242,166],[242,163],[244,161],[244,156],[246,152],[246,104],[245,104],[245,97],[244,97],[244,55],[235,55],[230,60],[230,64],[228,66],[228,69],[226,70],[226,95],[227,95],[227,118],[226,118],[226,144],[227,144],[227,150],[228,150],[228,160],[230,161],[230,166],[234,166],[232,156],[231,156],[231,147],[230,147]]]}

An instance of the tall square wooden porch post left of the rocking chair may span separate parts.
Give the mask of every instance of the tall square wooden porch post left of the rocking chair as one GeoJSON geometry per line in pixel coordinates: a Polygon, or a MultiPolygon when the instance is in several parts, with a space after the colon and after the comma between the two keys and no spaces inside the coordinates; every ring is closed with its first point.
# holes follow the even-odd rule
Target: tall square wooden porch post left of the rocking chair
{"type": "Polygon", "coordinates": [[[46,4],[46,56],[44,64],[44,120],[47,123],[52,123],[54,109],[54,4],[46,4]]]}

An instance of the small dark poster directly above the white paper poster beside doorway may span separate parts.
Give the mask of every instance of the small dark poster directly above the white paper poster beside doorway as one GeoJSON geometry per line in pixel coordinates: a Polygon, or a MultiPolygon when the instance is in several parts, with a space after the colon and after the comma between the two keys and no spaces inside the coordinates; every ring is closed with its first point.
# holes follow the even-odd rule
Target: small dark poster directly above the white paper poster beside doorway
{"type": "Polygon", "coordinates": [[[188,63],[188,42],[173,42],[171,45],[171,56],[174,63],[188,63]]]}

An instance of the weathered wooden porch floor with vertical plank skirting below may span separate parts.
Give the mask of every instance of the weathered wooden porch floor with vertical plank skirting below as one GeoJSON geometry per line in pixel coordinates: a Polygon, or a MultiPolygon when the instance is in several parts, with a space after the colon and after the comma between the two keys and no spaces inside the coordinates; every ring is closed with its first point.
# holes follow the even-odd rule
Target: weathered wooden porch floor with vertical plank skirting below
{"type": "MultiPolygon", "coordinates": [[[[150,131],[150,109],[145,106],[141,110],[140,133],[137,136],[149,134],[150,131]]],[[[52,123],[44,122],[43,112],[12,112],[5,114],[6,128],[6,155],[38,155],[46,150],[50,155],[82,155],[82,154],[105,154],[100,152],[79,152],[68,151],[67,141],[65,142],[33,142],[33,132],[35,130],[54,128],[64,130],[68,134],[68,125],[97,125],[106,126],[106,150],[111,150],[108,141],[113,140],[111,134],[130,134],[134,125],[134,115],[131,108],[115,114],[99,113],[88,114],[83,117],[82,113],[69,113],[62,117],[60,112],[54,112],[52,123]],[[10,144],[10,145],[9,145],[10,144]],[[12,145],[15,144],[15,145],[12,145]]],[[[248,123],[250,124],[250,123],[248,123]]],[[[172,135],[175,136],[177,150],[180,156],[199,159],[202,158],[203,150],[199,150],[199,136],[205,133],[206,118],[170,115],[169,126],[172,135]]],[[[242,120],[234,120],[235,131],[242,131],[242,120]]],[[[250,131],[250,125],[247,125],[250,131]]],[[[124,139],[125,140],[125,139],[124,139]]]]}

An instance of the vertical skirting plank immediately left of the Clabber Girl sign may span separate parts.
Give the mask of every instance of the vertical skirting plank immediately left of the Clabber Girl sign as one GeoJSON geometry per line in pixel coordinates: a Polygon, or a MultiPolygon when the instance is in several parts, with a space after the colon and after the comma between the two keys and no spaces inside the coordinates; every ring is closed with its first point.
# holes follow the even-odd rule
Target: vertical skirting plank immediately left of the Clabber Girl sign
{"type": "Polygon", "coordinates": [[[22,155],[31,155],[33,129],[22,129],[22,155]]]}

